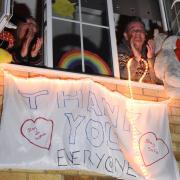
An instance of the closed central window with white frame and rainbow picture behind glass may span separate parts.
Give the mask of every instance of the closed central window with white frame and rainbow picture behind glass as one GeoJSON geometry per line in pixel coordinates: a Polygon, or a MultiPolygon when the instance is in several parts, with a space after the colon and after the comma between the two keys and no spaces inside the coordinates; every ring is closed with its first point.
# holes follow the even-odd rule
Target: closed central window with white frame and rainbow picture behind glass
{"type": "MultiPolygon", "coordinates": [[[[112,1],[68,2],[72,10],[63,14],[63,10],[56,8],[57,1],[52,4],[47,1],[45,49],[48,52],[45,65],[60,70],[118,77],[112,1]]],[[[61,8],[68,5],[63,6],[61,4],[61,8]]]]}

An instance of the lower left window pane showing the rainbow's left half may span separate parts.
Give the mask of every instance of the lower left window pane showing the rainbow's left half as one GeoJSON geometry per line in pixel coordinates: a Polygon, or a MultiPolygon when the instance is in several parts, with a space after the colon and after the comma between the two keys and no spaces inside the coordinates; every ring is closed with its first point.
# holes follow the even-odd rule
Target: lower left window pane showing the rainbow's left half
{"type": "Polygon", "coordinates": [[[53,61],[54,67],[73,72],[82,72],[79,24],[53,20],[53,61]]]}

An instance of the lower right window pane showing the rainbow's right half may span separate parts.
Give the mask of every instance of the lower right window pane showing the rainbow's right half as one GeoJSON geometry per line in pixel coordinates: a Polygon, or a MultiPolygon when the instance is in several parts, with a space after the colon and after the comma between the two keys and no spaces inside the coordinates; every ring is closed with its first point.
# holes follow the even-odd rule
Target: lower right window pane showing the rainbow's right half
{"type": "Polygon", "coordinates": [[[109,29],[83,25],[85,72],[110,75],[112,53],[109,29]]]}

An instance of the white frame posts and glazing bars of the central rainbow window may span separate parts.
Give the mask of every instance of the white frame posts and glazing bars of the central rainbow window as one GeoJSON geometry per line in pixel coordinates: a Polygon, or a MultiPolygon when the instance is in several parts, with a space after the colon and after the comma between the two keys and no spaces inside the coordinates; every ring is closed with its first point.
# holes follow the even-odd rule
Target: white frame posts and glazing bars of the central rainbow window
{"type": "MultiPolygon", "coordinates": [[[[53,15],[52,15],[52,3],[51,0],[45,0],[45,19],[44,19],[44,24],[47,24],[45,27],[45,32],[44,32],[44,39],[45,39],[45,46],[44,46],[44,58],[45,58],[45,66],[49,68],[53,68],[53,26],[52,26],[52,20],[53,20],[53,15]],[[47,49],[49,51],[47,51],[47,49]]],[[[81,12],[81,0],[78,0],[79,3],[79,12],[81,12]]],[[[115,23],[114,23],[114,13],[113,13],[113,2],[112,0],[106,0],[107,3],[107,10],[108,10],[108,22],[109,22],[109,33],[110,33],[110,45],[112,48],[112,66],[113,66],[113,77],[115,78],[120,78],[120,72],[119,72],[119,65],[118,65],[118,53],[117,53],[117,44],[116,44],[116,35],[115,35],[115,23]]],[[[80,13],[81,14],[81,13],[80,13]]],[[[76,20],[68,20],[64,18],[59,18],[61,20],[65,20],[66,22],[77,22],[80,25],[80,38],[81,38],[81,44],[83,45],[83,30],[82,30],[82,25],[87,24],[91,25],[91,23],[84,23],[82,22],[82,17],[80,15],[79,21],[76,20]]],[[[99,25],[94,25],[95,27],[101,27],[99,25]]],[[[84,62],[84,52],[83,52],[83,46],[81,46],[81,54],[82,54],[82,62],[84,62]]],[[[84,64],[84,63],[82,63],[84,64]]],[[[83,66],[83,71],[84,71],[84,66],[83,66]]]]}

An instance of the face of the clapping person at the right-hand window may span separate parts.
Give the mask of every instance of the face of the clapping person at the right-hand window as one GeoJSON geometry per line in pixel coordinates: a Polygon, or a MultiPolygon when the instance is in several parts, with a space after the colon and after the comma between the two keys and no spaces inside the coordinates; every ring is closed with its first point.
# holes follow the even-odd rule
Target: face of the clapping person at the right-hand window
{"type": "Polygon", "coordinates": [[[124,33],[124,37],[127,41],[133,42],[135,46],[142,47],[146,38],[143,24],[140,22],[130,23],[127,32],[124,33]]]}

